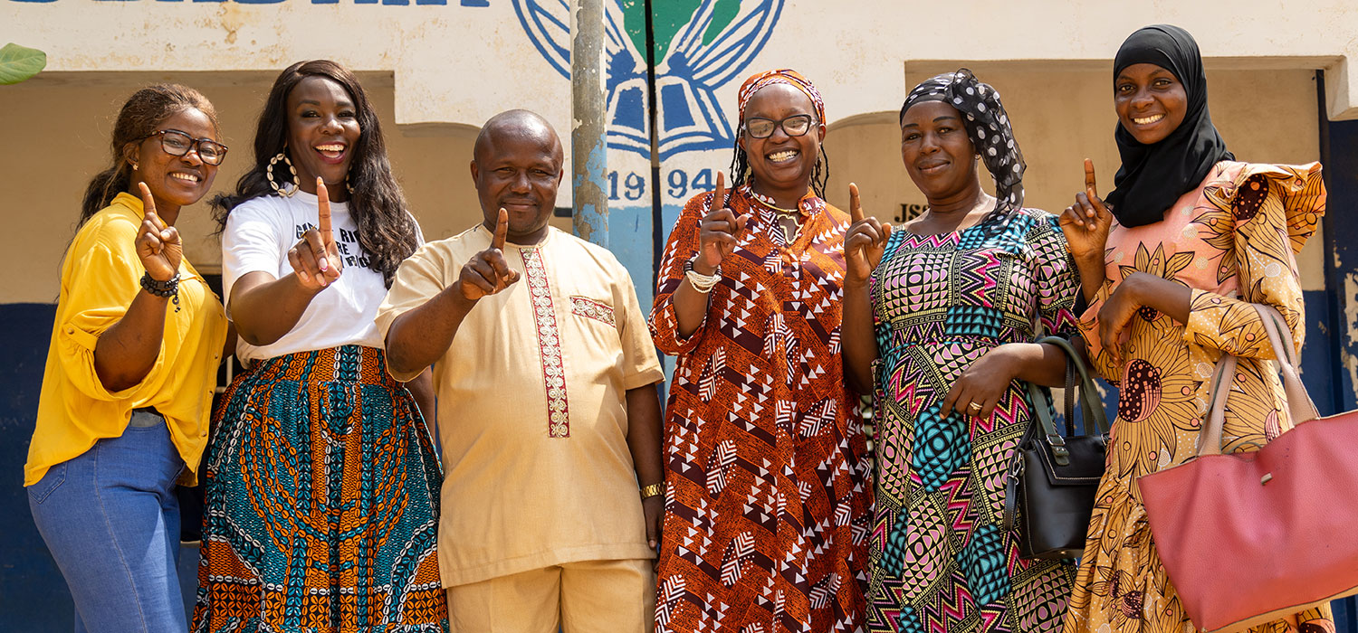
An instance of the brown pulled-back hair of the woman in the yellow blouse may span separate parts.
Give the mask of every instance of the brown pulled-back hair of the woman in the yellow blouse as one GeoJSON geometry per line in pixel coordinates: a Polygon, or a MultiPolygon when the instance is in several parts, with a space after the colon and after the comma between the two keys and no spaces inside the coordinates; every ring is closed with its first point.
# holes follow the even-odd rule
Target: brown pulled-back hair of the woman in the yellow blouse
{"type": "Polygon", "coordinates": [[[128,146],[145,140],[156,131],[156,126],[185,110],[198,110],[212,122],[212,129],[220,134],[217,111],[212,102],[198,91],[179,84],[155,84],[132,94],[118,110],[118,122],[113,125],[113,138],[109,141],[109,164],[95,173],[86,186],[84,201],[80,202],[80,222],[109,206],[118,194],[132,191],[132,163],[128,161],[128,146]]]}

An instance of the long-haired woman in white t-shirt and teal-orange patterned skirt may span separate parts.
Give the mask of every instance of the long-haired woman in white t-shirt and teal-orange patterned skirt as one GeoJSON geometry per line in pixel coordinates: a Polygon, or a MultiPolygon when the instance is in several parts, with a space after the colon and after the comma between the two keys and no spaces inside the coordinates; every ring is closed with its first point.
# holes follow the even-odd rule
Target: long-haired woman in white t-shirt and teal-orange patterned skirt
{"type": "Polygon", "coordinates": [[[447,630],[432,384],[394,382],[373,325],[424,240],[353,73],[285,69],[215,206],[247,369],[204,462],[193,630],[447,630]]]}

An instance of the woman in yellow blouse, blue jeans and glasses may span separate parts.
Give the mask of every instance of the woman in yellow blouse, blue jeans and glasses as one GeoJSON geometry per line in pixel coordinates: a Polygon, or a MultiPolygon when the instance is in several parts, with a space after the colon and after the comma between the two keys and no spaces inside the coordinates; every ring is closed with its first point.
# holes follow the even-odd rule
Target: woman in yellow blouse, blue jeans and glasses
{"type": "Polygon", "coordinates": [[[208,441],[227,317],[174,224],[212,187],[219,138],[197,91],[132,95],[61,267],[24,485],[76,632],[187,630],[174,485],[208,441]]]}

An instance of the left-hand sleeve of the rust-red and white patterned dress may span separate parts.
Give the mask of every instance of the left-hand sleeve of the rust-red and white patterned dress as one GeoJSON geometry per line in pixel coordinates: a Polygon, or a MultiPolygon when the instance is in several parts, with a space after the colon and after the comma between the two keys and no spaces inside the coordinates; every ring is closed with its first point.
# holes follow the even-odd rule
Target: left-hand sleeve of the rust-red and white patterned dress
{"type": "Polygon", "coordinates": [[[656,347],[672,356],[695,350],[708,331],[708,316],[703,314],[698,329],[694,329],[689,336],[679,335],[679,317],[675,313],[674,295],[684,279],[683,264],[698,253],[698,228],[712,195],[713,192],[695,195],[684,205],[679,220],[675,221],[675,226],[669,232],[669,240],[665,244],[665,252],[660,259],[660,270],[656,275],[656,298],[650,308],[650,335],[656,347]]]}

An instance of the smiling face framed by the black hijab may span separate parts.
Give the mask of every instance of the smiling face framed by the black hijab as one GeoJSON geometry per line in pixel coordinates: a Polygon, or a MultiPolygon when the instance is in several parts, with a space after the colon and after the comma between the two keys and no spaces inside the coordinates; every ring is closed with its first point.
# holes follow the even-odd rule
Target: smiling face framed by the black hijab
{"type": "Polygon", "coordinates": [[[1118,122],[1145,145],[1164,141],[1188,113],[1188,94],[1175,73],[1154,64],[1133,64],[1112,83],[1118,122]]]}

